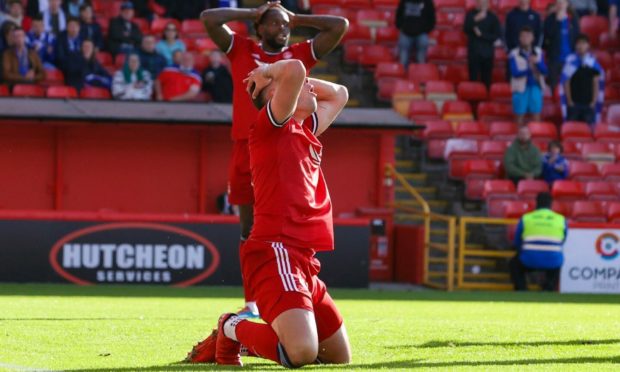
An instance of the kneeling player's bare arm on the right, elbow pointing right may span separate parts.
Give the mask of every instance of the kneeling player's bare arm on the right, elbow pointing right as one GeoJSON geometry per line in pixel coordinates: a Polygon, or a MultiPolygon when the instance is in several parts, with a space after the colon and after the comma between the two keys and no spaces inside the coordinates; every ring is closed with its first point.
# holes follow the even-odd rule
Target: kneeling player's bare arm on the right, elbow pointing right
{"type": "Polygon", "coordinates": [[[317,94],[318,108],[316,114],[319,128],[316,135],[319,136],[329,128],[347,104],[349,91],[343,85],[313,78],[308,80],[310,84],[314,85],[314,92],[317,94]]]}

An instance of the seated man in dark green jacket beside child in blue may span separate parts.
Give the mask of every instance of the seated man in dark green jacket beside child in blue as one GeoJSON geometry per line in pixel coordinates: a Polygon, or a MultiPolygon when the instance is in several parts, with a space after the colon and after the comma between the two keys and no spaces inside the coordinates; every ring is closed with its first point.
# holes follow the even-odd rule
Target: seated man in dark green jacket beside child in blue
{"type": "Polygon", "coordinates": [[[542,174],[540,150],[532,143],[531,137],[530,129],[522,126],[504,154],[506,177],[515,185],[523,179],[533,180],[542,174]]]}

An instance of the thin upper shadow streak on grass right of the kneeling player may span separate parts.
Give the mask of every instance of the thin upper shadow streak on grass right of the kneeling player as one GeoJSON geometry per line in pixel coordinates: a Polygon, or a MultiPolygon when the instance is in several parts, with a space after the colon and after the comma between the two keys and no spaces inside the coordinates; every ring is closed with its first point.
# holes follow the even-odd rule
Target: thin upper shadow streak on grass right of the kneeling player
{"type": "Polygon", "coordinates": [[[581,346],[581,345],[613,345],[620,344],[620,339],[609,340],[566,340],[566,341],[524,341],[524,342],[462,342],[462,341],[429,341],[420,345],[391,345],[386,349],[429,349],[440,347],[470,346],[581,346]]]}

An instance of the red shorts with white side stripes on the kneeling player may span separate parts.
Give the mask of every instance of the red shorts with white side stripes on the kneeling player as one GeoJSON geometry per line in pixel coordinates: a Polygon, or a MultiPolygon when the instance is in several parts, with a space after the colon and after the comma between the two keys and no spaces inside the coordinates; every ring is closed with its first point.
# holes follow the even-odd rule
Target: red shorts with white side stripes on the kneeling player
{"type": "Polygon", "coordinates": [[[265,322],[287,310],[304,309],[314,313],[319,341],[340,329],[342,315],[317,276],[321,264],[314,251],[250,239],[241,255],[245,283],[265,322]]]}

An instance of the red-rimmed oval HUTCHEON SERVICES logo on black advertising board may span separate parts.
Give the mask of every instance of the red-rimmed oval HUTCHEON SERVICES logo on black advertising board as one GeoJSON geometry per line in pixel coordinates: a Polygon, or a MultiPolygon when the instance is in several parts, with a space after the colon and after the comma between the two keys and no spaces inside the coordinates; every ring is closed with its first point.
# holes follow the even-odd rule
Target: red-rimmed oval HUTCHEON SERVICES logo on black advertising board
{"type": "Polygon", "coordinates": [[[153,283],[186,287],[219,266],[213,243],[193,231],[154,223],[110,223],[61,238],[49,260],[66,280],[96,283],[153,283]]]}

